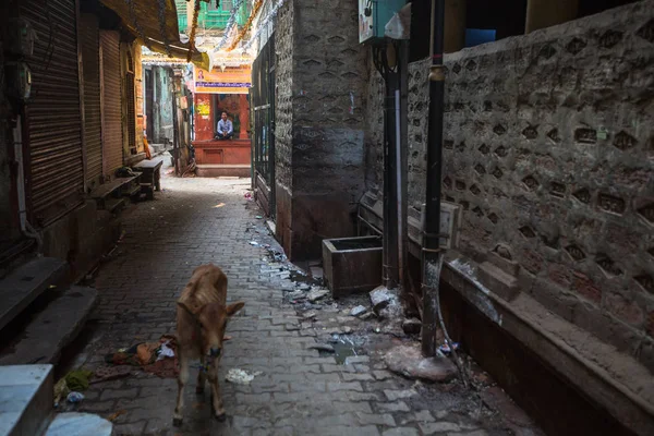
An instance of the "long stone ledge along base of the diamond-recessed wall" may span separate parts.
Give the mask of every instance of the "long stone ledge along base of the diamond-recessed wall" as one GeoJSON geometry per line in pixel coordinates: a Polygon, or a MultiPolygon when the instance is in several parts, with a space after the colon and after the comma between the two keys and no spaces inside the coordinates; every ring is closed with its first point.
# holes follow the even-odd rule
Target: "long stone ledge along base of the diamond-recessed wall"
{"type": "Polygon", "coordinates": [[[524,292],[502,300],[479,281],[474,262],[458,253],[448,257],[441,281],[635,434],[654,434],[654,377],[643,365],[524,292]]]}

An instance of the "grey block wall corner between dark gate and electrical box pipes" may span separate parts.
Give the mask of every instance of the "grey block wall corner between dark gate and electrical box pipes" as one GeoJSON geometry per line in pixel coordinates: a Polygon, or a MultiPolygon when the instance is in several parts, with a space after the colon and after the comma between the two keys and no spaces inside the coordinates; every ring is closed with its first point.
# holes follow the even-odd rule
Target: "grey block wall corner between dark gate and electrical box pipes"
{"type": "Polygon", "coordinates": [[[277,227],[293,259],[319,258],[323,239],[355,232],[367,80],[356,10],[294,0],[278,19],[277,227]]]}

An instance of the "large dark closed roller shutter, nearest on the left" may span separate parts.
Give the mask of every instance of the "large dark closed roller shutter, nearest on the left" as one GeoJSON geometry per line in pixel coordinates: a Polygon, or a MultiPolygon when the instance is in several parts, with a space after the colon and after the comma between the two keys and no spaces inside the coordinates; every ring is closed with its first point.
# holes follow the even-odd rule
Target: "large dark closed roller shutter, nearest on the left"
{"type": "Polygon", "coordinates": [[[27,181],[36,222],[46,226],[76,207],[84,191],[75,0],[22,1],[21,14],[38,38],[28,60],[27,181]]]}

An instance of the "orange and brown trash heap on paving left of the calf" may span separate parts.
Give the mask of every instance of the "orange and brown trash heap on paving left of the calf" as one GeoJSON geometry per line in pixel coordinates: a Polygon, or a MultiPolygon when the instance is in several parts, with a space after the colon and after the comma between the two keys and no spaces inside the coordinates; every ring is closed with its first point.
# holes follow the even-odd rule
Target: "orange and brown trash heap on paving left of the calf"
{"type": "MultiPolygon", "coordinates": [[[[118,350],[105,356],[105,362],[114,365],[141,366],[143,371],[161,378],[174,378],[179,374],[177,341],[170,335],[164,335],[158,342],[141,342],[128,349],[118,350]],[[161,349],[171,349],[173,356],[158,359],[161,349]]],[[[168,351],[166,351],[168,353],[168,351]]]]}

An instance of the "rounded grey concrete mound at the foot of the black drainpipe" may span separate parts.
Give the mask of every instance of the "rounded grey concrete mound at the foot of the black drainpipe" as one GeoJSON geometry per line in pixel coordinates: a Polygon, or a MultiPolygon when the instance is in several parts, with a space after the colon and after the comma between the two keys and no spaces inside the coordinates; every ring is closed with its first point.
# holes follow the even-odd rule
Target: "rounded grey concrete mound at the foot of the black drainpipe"
{"type": "Polygon", "coordinates": [[[390,349],[384,361],[388,370],[408,378],[447,382],[457,376],[457,366],[447,358],[423,358],[416,346],[397,346],[390,349]]]}

